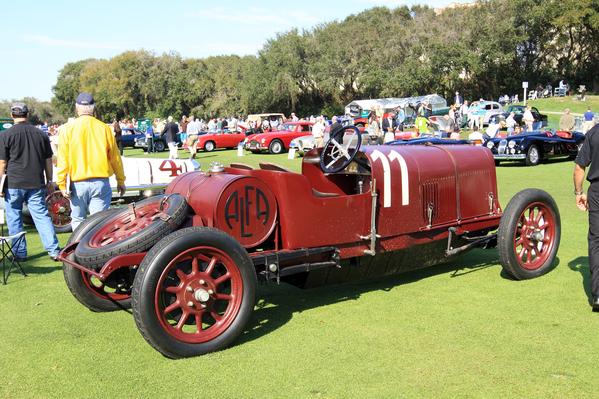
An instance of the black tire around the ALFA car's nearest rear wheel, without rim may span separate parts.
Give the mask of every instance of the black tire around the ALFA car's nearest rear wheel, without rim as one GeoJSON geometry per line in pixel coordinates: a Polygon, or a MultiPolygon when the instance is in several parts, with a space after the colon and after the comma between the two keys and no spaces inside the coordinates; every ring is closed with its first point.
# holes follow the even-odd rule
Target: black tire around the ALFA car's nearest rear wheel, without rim
{"type": "Polygon", "coordinates": [[[226,348],[244,330],[255,305],[256,273],[247,251],[234,237],[210,227],[189,227],[169,234],[150,249],[135,276],[132,298],[135,324],[152,348],[173,359],[200,356],[226,348]],[[171,261],[200,245],[220,249],[231,257],[240,272],[243,296],[234,320],[222,333],[202,343],[188,343],[171,336],[163,327],[156,312],[155,297],[161,276],[171,261]]]}

